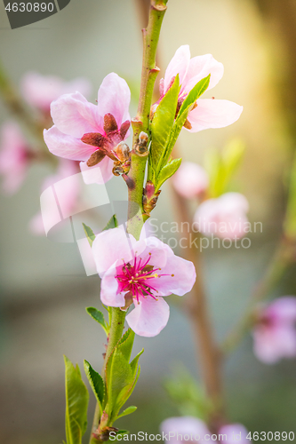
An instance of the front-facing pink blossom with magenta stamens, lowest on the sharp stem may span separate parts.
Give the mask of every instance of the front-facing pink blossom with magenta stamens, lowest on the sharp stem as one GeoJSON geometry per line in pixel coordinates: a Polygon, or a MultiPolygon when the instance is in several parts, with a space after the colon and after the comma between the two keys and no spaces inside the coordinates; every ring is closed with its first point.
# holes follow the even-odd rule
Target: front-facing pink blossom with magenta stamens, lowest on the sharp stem
{"type": "Polygon", "coordinates": [[[170,247],[156,237],[140,241],[124,229],[114,228],[98,234],[92,253],[101,277],[100,299],[108,306],[135,308],[126,316],[131,329],[140,336],[154,337],[169,319],[164,297],[183,296],[196,281],[192,262],[175,256],[170,247]]]}

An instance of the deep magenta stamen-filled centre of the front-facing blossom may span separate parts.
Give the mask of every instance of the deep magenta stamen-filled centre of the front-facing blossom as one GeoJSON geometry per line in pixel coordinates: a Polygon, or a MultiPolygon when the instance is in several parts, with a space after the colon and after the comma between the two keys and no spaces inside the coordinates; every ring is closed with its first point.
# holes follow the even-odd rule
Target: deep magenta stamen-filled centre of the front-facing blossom
{"type": "Polygon", "coordinates": [[[116,275],[116,279],[119,283],[119,291],[127,291],[132,293],[132,297],[137,299],[139,303],[139,297],[151,296],[157,300],[153,295],[153,292],[158,293],[158,290],[151,285],[150,280],[155,278],[161,278],[162,276],[173,276],[173,274],[159,274],[158,271],[161,268],[155,268],[149,265],[151,253],[146,262],[141,258],[134,258],[133,265],[128,262],[124,263],[121,269],[121,273],[116,275]]]}

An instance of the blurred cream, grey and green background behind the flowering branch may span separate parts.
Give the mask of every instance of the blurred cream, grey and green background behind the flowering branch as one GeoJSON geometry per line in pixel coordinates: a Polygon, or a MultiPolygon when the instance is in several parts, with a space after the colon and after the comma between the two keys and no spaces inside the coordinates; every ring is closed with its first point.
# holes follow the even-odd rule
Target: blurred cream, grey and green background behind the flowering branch
{"type": "MultiPolygon", "coordinates": [[[[90,101],[105,75],[115,71],[132,90],[136,113],[140,85],[141,0],[71,0],[51,18],[11,30],[0,4],[0,52],[15,85],[28,71],[64,80],[86,76],[90,101]]],[[[250,202],[249,218],[263,224],[251,234],[248,250],[204,250],[204,280],[215,335],[222,339],[244,312],[256,281],[280,236],[286,177],[295,147],[296,4],[292,0],[170,0],[159,44],[164,74],[181,44],[191,55],[212,53],[225,74],[211,97],[244,106],[238,122],[220,130],[182,131],[183,159],[203,163],[209,147],[222,148],[239,137],[247,147],[236,174],[237,191],[250,202]]],[[[9,116],[0,101],[0,123],[9,116]]],[[[100,369],[105,337],[85,313],[100,308],[100,280],[86,277],[75,243],[51,242],[28,230],[39,210],[42,179],[50,166],[35,165],[18,194],[1,195],[0,441],[52,444],[64,439],[65,353],[73,362],[100,369]]],[[[121,178],[108,184],[123,188],[121,178]]],[[[123,191],[120,191],[123,195],[123,191]]],[[[165,184],[153,217],[174,220],[172,192],[165,184]]],[[[176,250],[180,255],[181,251],[176,250]]],[[[296,268],[275,289],[275,296],[296,295],[296,268]]],[[[169,300],[168,326],[154,338],[137,337],[141,376],[129,405],[136,413],[118,424],[131,432],[157,432],[160,422],[178,414],[164,380],[180,361],[198,377],[196,347],[177,298],[169,300]]],[[[248,430],[296,432],[296,362],[268,366],[252,353],[246,337],[227,362],[224,377],[230,422],[248,430]]],[[[90,422],[94,408],[91,394],[90,422]]],[[[86,438],[86,437],[85,437],[86,438]]],[[[86,438],[87,440],[87,438],[86,438]]],[[[85,441],[86,442],[86,441],[85,441]]]]}

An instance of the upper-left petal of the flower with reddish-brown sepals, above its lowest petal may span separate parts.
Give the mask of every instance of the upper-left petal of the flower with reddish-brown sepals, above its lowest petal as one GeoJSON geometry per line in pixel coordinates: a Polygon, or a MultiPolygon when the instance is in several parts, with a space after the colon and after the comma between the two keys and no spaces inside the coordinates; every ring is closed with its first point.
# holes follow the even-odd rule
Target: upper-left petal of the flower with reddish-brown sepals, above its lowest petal
{"type": "Polygon", "coordinates": [[[96,121],[97,107],[89,103],[80,92],[64,94],[54,100],[51,115],[53,123],[61,132],[78,139],[86,132],[103,131],[96,121]]]}

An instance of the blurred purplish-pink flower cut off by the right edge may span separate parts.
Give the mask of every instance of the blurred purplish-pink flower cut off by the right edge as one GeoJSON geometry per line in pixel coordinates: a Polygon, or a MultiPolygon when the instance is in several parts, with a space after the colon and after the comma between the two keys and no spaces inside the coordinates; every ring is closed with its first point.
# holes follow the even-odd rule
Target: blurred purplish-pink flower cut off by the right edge
{"type": "Polygon", "coordinates": [[[266,364],[296,356],[296,297],[279,297],[264,307],[252,332],[254,353],[266,364]]]}

